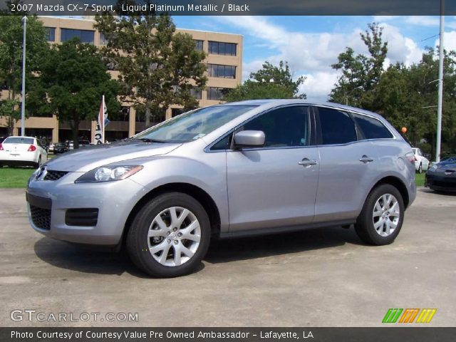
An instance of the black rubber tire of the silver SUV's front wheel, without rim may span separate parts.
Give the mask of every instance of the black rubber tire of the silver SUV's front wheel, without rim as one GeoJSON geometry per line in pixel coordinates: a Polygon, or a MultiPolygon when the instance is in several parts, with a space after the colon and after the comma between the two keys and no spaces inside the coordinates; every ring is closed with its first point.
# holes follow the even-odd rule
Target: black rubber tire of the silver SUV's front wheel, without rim
{"type": "MultiPolygon", "coordinates": [[[[171,231],[170,231],[171,232],[171,231]]],[[[160,278],[171,278],[175,276],[183,276],[194,271],[201,263],[207,253],[211,238],[211,228],[209,217],[204,207],[193,197],[182,194],[180,192],[169,192],[159,195],[140,209],[135,215],[127,235],[127,250],[133,263],[139,269],[151,276],[160,278]],[[188,261],[185,261],[180,266],[166,266],[160,264],[150,253],[147,240],[147,234],[155,217],[160,212],[170,207],[182,207],[190,210],[195,215],[200,227],[199,245],[188,261]]],[[[165,243],[167,237],[163,238],[165,243]]],[[[185,241],[185,240],[182,240],[185,241]]],[[[185,242],[184,242],[185,243],[185,242]]],[[[171,248],[170,248],[171,250],[171,248]]],[[[175,249],[173,249],[175,251],[175,249]]]]}

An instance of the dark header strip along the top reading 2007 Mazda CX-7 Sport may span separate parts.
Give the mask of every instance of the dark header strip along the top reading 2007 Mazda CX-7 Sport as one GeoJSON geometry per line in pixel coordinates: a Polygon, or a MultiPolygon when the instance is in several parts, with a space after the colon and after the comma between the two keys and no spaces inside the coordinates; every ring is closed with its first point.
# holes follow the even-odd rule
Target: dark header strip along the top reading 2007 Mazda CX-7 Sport
{"type": "MultiPolygon", "coordinates": [[[[438,16],[440,0],[22,0],[3,14],[28,11],[39,16],[95,16],[145,12],[172,16],[438,16]]],[[[445,15],[456,15],[456,1],[445,0],[445,15]]]]}

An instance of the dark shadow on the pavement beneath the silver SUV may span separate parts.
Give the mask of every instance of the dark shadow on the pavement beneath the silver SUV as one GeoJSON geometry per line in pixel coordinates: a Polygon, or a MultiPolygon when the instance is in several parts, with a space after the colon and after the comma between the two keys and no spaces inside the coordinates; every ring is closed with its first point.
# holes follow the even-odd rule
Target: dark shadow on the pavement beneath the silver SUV
{"type": "MultiPolygon", "coordinates": [[[[306,252],[314,249],[337,247],[343,244],[362,244],[353,229],[328,227],[301,232],[274,234],[259,237],[214,240],[204,261],[217,264],[245,259],[257,259],[274,255],[306,252]]],[[[88,274],[117,274],[125,272],[139,278],[150,278],[130,260],[125,249],[116,253],[83,245],[69,244],[43,237],[34,245],[38,258],[61,269],[88,274]]],[[[204,269],[201,263],[192,272],[204,269]]]]}

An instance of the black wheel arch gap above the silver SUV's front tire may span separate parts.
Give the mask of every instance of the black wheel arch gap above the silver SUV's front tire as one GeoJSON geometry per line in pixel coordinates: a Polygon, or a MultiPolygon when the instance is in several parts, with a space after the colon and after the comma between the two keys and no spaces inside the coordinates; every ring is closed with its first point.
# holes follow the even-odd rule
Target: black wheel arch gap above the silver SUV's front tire
{"type": "Polygon", "coordinates": [[[123,227],[123,238],[122,244],[125,243],[125,239],[128,234],[128,230],[130,229],[131,223],[135,218],[135,215],[139,212],[142,206],[150,201],[150,199],[162,195],[167,192],[181,192],[183,194],[189,195],[195,198],[203,207],[206,209],[207,216],[209,217],[209,222],[211,224],[211,234],[214,237],[218,237],[220,234],[220,213],[217,204],[215,204],[214,199],[202,190],[200,187],[196,185],[192,185],[190,183],[168,183],[165,185],[160,185],[160,187],[156,187],[150,192],[147,192],[136,204],[135,207],[130,211],[128,214],[127,221],[125,222],[125,226],[123,227]]]}

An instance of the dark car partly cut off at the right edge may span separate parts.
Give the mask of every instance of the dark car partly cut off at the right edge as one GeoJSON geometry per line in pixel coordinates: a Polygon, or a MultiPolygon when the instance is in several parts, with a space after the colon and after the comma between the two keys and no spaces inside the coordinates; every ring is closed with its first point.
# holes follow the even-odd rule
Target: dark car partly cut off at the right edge
{"type": "Polygon", "coordinates": [[[442,192],[456,192],[456,157],[432,165],[426,172],[425,187],[442,192]]]}

